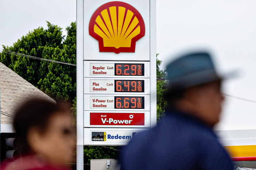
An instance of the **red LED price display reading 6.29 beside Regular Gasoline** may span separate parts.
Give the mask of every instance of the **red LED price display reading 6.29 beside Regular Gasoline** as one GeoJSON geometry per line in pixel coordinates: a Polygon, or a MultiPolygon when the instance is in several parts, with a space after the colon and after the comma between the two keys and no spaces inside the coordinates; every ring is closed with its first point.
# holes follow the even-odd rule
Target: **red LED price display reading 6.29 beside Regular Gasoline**
{"type": "Polygon", "coordinates": [[[115,75],[144,76],[144,64],[115,64],[115,75]]]}

